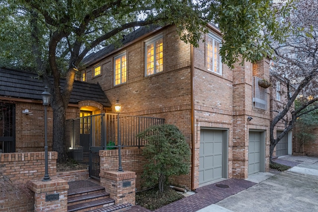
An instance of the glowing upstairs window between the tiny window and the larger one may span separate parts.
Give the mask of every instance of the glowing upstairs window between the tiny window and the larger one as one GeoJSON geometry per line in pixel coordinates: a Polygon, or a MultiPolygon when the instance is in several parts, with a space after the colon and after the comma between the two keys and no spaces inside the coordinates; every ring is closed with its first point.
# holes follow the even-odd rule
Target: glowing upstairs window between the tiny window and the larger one
{"type": "Polygon", "coordinates": [[[127,81],[126,52],[114,57],[114,85],[120,85],[127,81]]]}

